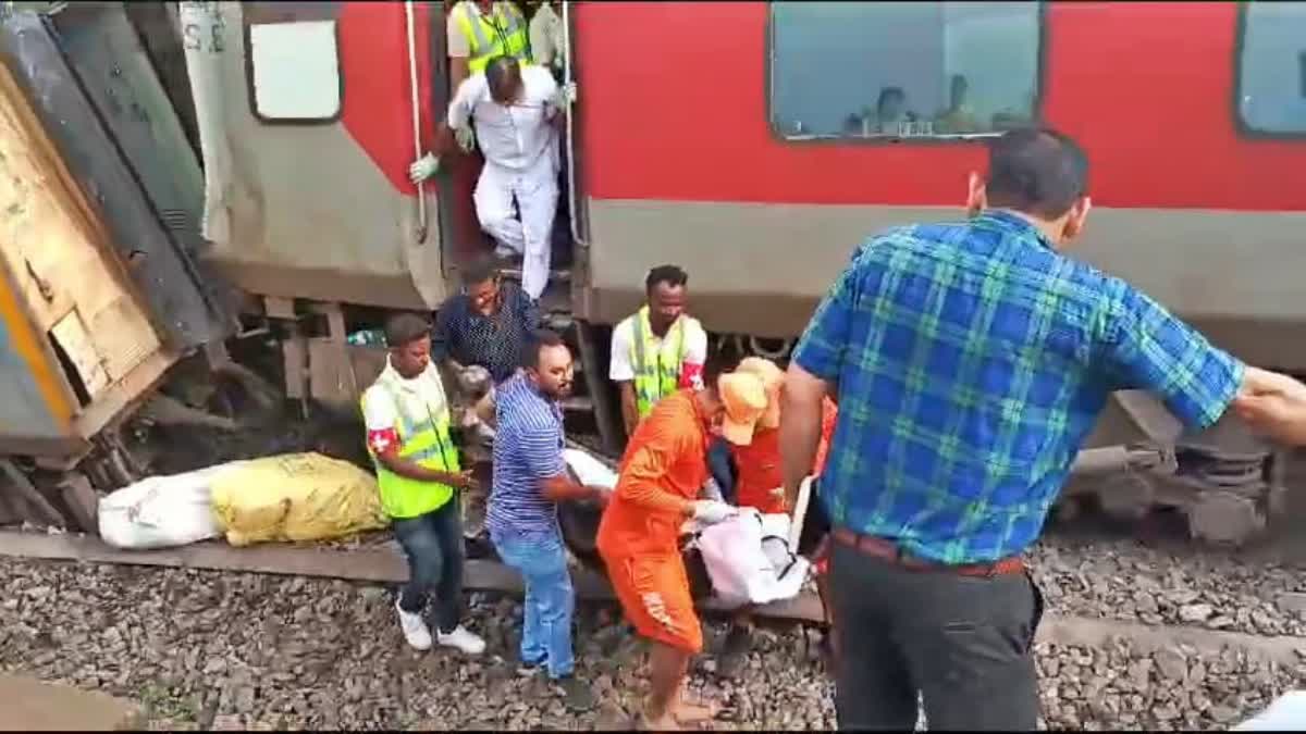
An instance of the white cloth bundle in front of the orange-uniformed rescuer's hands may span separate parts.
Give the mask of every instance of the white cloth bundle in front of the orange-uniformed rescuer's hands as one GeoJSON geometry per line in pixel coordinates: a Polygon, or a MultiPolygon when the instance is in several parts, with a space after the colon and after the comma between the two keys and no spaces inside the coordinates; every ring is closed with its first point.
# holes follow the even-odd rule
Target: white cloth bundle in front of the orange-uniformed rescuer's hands
{"type": "Polygon", "coordinates": [[[788,515],[739,515],[704,528],[695,541],[716,597],[729,606],[769,603],[798,596],[808,562],[790,552],[788,515]]]}

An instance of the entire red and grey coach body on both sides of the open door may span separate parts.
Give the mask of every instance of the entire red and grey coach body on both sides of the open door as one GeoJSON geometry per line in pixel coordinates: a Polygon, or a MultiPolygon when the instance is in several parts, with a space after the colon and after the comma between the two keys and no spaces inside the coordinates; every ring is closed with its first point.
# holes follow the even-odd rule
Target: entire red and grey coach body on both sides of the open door
{"type": "MultiPolygon", "coordinates": [[[[428,149],[449,95],[441,5],[411,4],[411,46],[401,3],[222,8],[225,52],[188,50],[193,73],[217,69],[196,103],[210,99],[210,136],[230,148],[205,153],[210,178],[231,159],[227,180],[209,187],[230,193],[209,196],[206,210],[225,208],[232,222],[229,236],[210,236],[212,259],[255,295],[436,307],[479,238],[474,162],[447,157],[454,175],[426,188],[424,239],[406,180],[414,114],[428,149]],[[334,47],[312,40],[315,22],[334,25],[334,47]],[[264,60],[251,34],[270,38],[278,24],[296,26],[286,38],[303,48],[264,60]],[[302,69],[276,72],[291,65],[302,69]],[[260,84],[273,101],[338,86],[338,108],[317,101],[333,114],[268,119],[260,84]]],[[[1296,338],[1306,325],[1303,3],[567,10],[580,86],[569,295],[590,323],[620,320],[648,268],[677,263],[709,329],[793,337],[857,244],[960,215],[983,138],[1038,119],[1092,159],[1081,257],[1246,359],[1306,370],[1296,338]],[[951,99],[957,84],[969,85],[965,104],[951,99]],[[925,127],[867,135],[889,88],[925,127]],[[944,107],[980,121],[948,128],[944,107]]]]}

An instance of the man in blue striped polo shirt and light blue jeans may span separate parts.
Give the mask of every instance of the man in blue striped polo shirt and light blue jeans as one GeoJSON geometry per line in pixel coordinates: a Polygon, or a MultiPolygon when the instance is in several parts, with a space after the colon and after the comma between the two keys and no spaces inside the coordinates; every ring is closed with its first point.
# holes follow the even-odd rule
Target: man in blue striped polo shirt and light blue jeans
{"type": "Polygon", "coordinates": [[[563,411],[572,391],[572,355],[551,332],[535,332],[522,355],[524,370],[499,387],[495,417],[490,539],[526,586],[521,663],[545,667],[567,705],[588,709],[594,696],[572,675],[571,623],[575,607],[567,550],[558,525],[559,502],[606,502],[606,491],[577,485],[563,461],[563,411]]]}

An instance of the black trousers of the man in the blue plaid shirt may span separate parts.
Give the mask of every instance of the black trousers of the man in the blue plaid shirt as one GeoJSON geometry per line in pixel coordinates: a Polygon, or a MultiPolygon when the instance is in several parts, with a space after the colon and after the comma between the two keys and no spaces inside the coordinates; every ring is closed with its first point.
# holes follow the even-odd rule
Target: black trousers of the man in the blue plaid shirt
{"type": "Polygon", "coordinates": [[[1028,573],[913,571],[835,542],[840,730],[1033,730],[1042,594],[1028,573]]]}

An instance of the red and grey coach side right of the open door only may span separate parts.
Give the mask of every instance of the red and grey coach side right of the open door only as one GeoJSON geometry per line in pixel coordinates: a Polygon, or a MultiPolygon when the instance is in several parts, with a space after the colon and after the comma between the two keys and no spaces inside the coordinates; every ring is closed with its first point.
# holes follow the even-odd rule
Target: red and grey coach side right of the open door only
{"type": "MultiPolygon", "coordinates": [[[[643,270],[671,260],[690,269],[709,328],[791,336],[865,236],[914,218],[959,215],[966,174],[983,167],[982,138],[803,136],[780,119],[785,103],[820,112],[819,95],[789,93],[795,85],[844,88],[849,97],[870,84],[874,71],[845,35],[815,38],[820,13],[842,12],[845,25],[861,24],[853,35],[872,54],[887,39],[871,24],[909,12],[895,3],[832,5],[573,7],[590,240],[584,315],[618,319],[637,298],[643,270]],[[804,22],[811,38],[795,38],[804,22]],[[801,78],[780,78],[786,73],[801,78]],[[784,84],[789,91],[778,89],[784,84]]],[[[1267,40],[1266,29],[1297,29],[1306,39],[1306,4],[1276,4],[1273,17],[1262,16],[1275,8],[1232,3],[917,9],[932,5],[991,7],[986,33],[1028,57],[1008,51],[1011,76],[1032,72],[1027,112],[1087,149],[1097,209],[1080,247],[1085,259],[1153,293],[1249,359],[1306,367],[1306,353],[1280,338],[1306,319],[1296,276],[1306,265],[1306,50],[1301,60],[1263,68],[1282,56],[1282,43],[1267,40]],[[1028,30],[1003,35],[1003,22],[1028,30]],[[1239,80],[1241,71],[1259,76],[1239,80]],[[1260,94],[1255,85],[1280,72],[1284,89],[1260,94]],[[1255,86],[1255,103],[1239,103],[1239,94],[1250,94],[1239,82],[1255,86]],[[1249,129],[1273,118],[1263,102],[1277,102],[1277,94],[1289,129],[1249,129]]],[[[948,12],[940,10],[942,21],[918,16],[948,29],[948,12]]],[[[948,43],[964,39],[946,38],[944,56],[948,43]]],[[[896,52],[904,65],[931,61],[908,48],[896,52]]],[[[985,63],[976,52],[955,56],[944,64],[953,73],[985,63]]],[[[980,81],[990,89],[1002,84],[994,69],[985,72],[990,78],[980,81]]],[[[863,94],[875,101],[874,89],[863,94]]]]}

